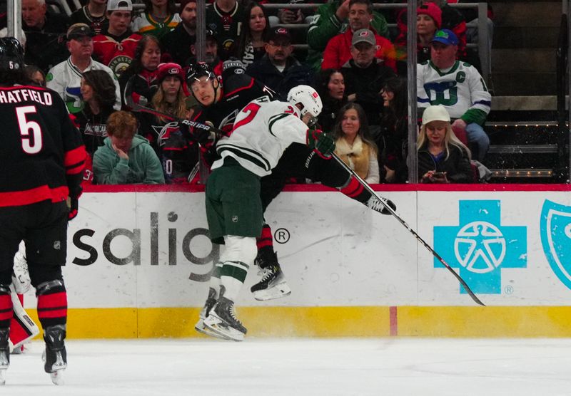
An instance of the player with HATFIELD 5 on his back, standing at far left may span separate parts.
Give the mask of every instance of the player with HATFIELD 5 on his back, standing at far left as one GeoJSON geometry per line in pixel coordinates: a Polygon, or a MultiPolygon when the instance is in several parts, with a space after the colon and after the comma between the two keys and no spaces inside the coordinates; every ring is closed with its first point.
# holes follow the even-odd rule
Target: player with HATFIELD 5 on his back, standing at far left
{"type": "Polygon", "coordinates": [[[10,363],[14,254],[24,240],[44,328],[44,370],[59,384],[67,365],[61,266],[66,264],[68,221],[77,214],[86,152],[63,100],[52,90],[21,85],[23,67],[20,43],[0,38],[0,382],[10,363]]]}

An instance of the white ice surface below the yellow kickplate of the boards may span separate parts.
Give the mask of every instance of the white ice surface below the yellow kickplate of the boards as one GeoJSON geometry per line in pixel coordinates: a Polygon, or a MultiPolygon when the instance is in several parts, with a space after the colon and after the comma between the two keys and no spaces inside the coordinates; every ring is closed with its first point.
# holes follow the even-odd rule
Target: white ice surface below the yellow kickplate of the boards
{"type": "Polygon", "coordinates": [[[42,348],[0,395],[571,395],[571,339],[69,340],[59,387],[42,348]]]}

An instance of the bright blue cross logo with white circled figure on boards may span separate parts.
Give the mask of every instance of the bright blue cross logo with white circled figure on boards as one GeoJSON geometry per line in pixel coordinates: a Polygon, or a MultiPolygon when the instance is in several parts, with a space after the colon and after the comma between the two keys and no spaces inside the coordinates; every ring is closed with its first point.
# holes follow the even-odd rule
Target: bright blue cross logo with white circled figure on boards
{"type": "MultiPolygon", "coordinates": [[[[527,227],[502,226],[500,201],[460,201],[458,226],[435,226],[434,249],[474,293],[500,294],[501,269],[527,267],[527,227]]],[[[435,268],[443,264],[434,259],[435,268]]],[[[460,286],[460,293],[466,291],[460,286]]]]}

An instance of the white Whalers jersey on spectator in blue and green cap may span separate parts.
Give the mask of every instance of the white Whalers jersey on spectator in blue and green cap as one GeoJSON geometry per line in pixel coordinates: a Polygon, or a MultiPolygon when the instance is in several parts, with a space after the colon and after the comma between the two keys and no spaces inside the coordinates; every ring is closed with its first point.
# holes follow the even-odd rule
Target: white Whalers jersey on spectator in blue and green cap
{"type": "Polygon", "coordinates": [[[492,95],[482,75],[470,63],[456,61],[449,71],[440,71],[432,61],[418,64],[416,90],[419,108],[443,105],[450,118],[482,125],[490,113],[492,95]]]}

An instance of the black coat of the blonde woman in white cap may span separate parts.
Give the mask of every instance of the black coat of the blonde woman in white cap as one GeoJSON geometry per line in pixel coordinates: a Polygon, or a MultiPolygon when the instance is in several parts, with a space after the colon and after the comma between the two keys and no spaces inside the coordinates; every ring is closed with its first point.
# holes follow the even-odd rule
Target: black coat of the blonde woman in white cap
{"type": "Polygon", "coordinates": [[[450,155],[446,159],[446,152],[441,157],[435,158],[428,151],[425,144],[418,150],[418,178],[429,170],[446,172],[446,178],[450,183],[473,183],[475,182],[474,171],[468,159],[468,153],[458,146],[448,145],[450,155]]]}

